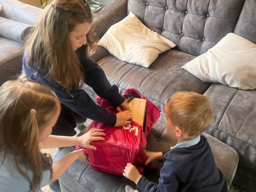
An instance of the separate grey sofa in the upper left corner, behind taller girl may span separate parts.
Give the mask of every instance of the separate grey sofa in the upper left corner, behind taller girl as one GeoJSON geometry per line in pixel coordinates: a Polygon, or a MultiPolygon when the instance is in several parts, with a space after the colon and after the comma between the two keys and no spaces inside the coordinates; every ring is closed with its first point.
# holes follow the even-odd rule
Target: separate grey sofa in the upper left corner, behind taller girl
{"type": "Polygon", "coordinates": [[[16,0],[0,0],[0,85],[20,74],[23,43],[42,9],[16,0]]]}

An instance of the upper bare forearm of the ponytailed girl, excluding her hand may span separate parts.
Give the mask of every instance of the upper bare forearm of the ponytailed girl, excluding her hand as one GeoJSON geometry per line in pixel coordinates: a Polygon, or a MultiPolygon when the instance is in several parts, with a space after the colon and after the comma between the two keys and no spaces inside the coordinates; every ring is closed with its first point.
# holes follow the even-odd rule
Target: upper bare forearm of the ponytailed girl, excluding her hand
{"type": "Polygon", "coordinates": [[[56,136],[50,135],[47,139],[39,143],[41,149],[51,149],[51,148],[59,148],[59,147],[68,147],[78,145],[76,136],[68,137],[68,136],[56,136]]]}

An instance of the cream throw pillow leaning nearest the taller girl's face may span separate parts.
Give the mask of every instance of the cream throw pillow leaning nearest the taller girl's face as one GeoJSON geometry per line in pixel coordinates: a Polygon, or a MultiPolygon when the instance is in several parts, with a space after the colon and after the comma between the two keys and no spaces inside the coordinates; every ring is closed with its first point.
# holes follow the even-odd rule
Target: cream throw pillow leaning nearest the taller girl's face
{"type": "Polygon", "coordinates": [[[160,53],[176,46],[143,25],[133,12],[111,26],[98,45],[122,61],[147,68],[160,53]]]}

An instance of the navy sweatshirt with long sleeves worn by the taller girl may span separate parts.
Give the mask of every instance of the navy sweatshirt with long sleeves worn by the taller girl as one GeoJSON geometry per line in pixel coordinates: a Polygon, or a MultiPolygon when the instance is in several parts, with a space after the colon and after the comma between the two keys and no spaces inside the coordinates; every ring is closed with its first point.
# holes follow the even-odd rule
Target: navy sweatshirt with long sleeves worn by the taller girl
{"type": "MultiPolygon", "coordinates": [[[[68,93],[63,86],[55,82],[51,77],[40,71],[36,73],[35,68],[29,68],[27,60],[28,53],[25,53],[23,56],[22,72],[25,73],[28,78],[51,88],[60,102],[70,110],[83,117],[104,123],[108,126],[114,126],[116,124],[116,115],[96,105],[84,90],[73,89],[68,93]]],[[[81,61],[81,64],[84,70],[85,83],[91,86],[101,98],[107,99],[114,108],[124,102],[125,98],[119,94],[118,87],[116,85],[111,86],[104,71],[95,61],[84,59],[81,61]]]]}

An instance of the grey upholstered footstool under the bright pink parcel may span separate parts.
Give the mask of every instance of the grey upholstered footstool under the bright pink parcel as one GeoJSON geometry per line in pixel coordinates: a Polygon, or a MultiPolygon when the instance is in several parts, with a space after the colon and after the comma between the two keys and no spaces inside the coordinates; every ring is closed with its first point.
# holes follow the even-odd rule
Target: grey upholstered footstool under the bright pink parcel
{"type": "MultiPolygon", "coordinates": [[[[171,146],[175,145],[175,142],[171,140],[165,129],[165,117],[162,113],[160,119],[153,126],[147,139],[147,149],[151,151],[166,151],[171,146]]],[[[236,172],[236,166],[238,163],[237,152],[229,147],[227,144],[213,138],[211,135],[203,133],[207,138],[214,156],[214,160],[218,168],[223,172],[227,178],[228,185],[230,187],[236,172]],[[228,164],[225,161],[229,162],[228,164]]],[[[69,152],[74,150],[73,147],[63,148],[55,157],[56,160],[67,155],[69,152]]],[[[154,162],[157,170],[145,171],[145,176],[158,182],[159,171],[163,166],[163,163],[154,162]]],[[[62,192],[73,192],[73,191],[94,191],[94,192],[124,192],[125,186],[130,185],[136,188],[135,184],[125,177],[108,174],[105,172],[99,172],[89,168],[87,163],[77,160],[73,163],[68,170],[60,177],[60,187],[62,192]],[[74,181],[76,181],[74,184],[74,181]],[[97,185],[95,185],[97,182],[97,185]]]]}

